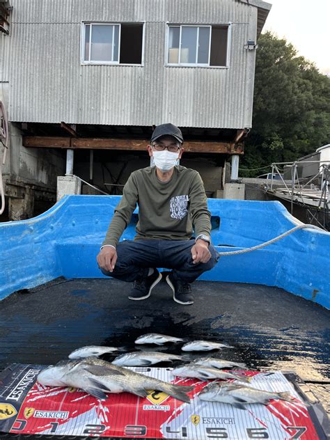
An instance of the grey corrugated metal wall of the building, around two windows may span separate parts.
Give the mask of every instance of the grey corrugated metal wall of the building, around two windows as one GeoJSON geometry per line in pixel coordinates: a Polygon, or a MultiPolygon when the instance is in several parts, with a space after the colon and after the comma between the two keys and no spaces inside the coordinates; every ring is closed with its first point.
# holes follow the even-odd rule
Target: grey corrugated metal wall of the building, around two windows
{"type": "Polygon", "coordinates": [[[251,127],[258,9],[235,0],[12,0],[12,121],[251,127]],[[81,21],[146,22],[143,66],[81,65],[81,21]],[[164,66],[166,22],[231,26],[230,68],[164,66]]]}

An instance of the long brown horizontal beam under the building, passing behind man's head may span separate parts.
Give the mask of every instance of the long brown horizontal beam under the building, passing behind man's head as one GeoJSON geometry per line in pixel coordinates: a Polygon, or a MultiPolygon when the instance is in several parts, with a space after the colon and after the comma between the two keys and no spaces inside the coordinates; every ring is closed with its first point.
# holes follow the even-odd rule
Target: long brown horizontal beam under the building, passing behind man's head
{"type": "MultiPolygon", "coordinates": [[[[107,138],[63,138],[24,136],[24,147],[40,148],[73,148],[73,149],[97,149],[97,150],[133,150],[145,151],[149,139],[107,139],[107,138]]],[[[214,141],[187,141],[183,144],[187,152],[212,152],[241,155],[244,152],[244,144],[234,142],[214,141]]]]}

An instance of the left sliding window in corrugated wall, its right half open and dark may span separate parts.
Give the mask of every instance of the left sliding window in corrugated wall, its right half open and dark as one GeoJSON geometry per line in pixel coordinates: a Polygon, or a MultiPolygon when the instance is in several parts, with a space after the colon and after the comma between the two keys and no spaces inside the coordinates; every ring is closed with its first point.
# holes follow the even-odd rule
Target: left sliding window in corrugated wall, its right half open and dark
{"type": "Polygon", "coordinates": [[[84,64],[142,64],[143,24],[83,24],[84,64]]]}

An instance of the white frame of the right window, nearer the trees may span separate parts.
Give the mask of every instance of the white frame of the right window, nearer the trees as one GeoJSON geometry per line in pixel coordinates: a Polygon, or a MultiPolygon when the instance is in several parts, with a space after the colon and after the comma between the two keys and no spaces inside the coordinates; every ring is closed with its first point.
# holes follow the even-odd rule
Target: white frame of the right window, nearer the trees
{"type": "MultiPolygon", "coordinates": [[[[166,22],[166,45],[165,45],[165,66],[171,68],[209,68],[209,69],[228,69],[230,67],[230,42],[231,42],[231,23],[218,23],[218,24],[175,24],[166,22]],[[228,28],[227,33],[227,48],[226,48],[226,65],[210,65],[211,56],[211,39],[212,39],[212,26],[226,26],[228,28]],[[168,42],[170,38],[170,27],[180,28],[180,41],[179,41],[179,62],[178,63],[168,63],[168,42]],[[197,63],[198,60],[198,50],[196,50],[196,63],[180,63],[181,58],[181,45],[182,45],[182,27],[196,27],[197,28],[197,45],[199,40],[199,29],[200,27],[210,28],[210,41],[209,41],[209,56],[208,63],[197,63]]],[[[198,47],[197,47],[198,49],[198,47]]]]}

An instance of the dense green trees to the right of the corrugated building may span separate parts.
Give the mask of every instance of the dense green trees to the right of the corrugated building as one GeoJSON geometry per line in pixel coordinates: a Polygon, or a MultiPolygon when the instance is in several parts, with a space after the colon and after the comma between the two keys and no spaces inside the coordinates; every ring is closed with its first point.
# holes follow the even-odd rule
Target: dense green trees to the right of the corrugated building
{"type": "Polygon", "coordinates": [[[330,142],[330,78],[272,33],[258,45],[253,128],[241,168],[293,161],[330,142]]]}

